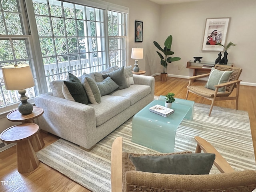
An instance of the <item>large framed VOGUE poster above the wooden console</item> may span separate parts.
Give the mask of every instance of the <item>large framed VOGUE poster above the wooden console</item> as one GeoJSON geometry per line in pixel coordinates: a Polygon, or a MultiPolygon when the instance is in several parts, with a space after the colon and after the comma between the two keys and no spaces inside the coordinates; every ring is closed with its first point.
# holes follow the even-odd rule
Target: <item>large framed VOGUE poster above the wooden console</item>
{"type": "Polygon", "coordinates": [[[225,45],[230,18],[206,19],[202,51],[223,51],[225,45]]]}

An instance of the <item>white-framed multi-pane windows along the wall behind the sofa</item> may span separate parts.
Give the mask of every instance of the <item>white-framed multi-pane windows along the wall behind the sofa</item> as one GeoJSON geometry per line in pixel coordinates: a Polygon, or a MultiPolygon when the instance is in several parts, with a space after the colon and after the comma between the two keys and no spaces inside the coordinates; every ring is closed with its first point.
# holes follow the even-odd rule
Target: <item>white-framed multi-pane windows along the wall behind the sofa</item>
{"type": "MultiPolygon", "coordinates": [[[[97,0],[86,3],[0,0],[0,65],[31,66],[36,85],[26,90],[30,98],[51,91],[50,82],[68,72],[82,76],[126,65],[127,12],[108,11],[97,0]]],[[[19,97],[5,89],[0,69],[0,112],[19,97]]]]}

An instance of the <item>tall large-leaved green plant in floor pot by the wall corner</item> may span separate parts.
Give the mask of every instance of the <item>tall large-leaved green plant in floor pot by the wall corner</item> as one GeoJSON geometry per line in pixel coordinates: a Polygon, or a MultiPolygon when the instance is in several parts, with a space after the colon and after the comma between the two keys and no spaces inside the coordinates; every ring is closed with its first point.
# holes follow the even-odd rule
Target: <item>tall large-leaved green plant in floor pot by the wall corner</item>
{"type": "Polygon", "coordinates": [[[160,76],[160,81],[166,81],[167,80],[166,70],[167,70],[168,64],[171,62],[180,60],[180,57],[171,57],[170,56],[170,55],[174,54],[174,52],[171,51],[172,35],[169,35],[166,38],[166,40],[164,42],[164,48],[161,48],[161,46],[156,41],[154,41],[153,43],[156,46],[156,48],[158,48],[164,54],[164,56],[163,56],[160,52],[156,51],[158,56],[161,59],[160,64],[164,67],[164,71],[161,73],[161,76],[160,76]]]}

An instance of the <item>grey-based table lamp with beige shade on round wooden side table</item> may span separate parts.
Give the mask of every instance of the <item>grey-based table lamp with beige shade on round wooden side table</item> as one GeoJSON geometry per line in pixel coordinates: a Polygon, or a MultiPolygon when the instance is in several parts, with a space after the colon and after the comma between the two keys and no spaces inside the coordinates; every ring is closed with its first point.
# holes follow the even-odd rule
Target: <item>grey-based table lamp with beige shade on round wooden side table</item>
{"type": "Polygon", "coordinates": [[[8,65],[2,67],[4,77],[4,85],[6,90],[18,90],[21,103],[18,106],[18,111],[21,114],[30,114],[33,111],[33,105],[28,102],[26,88],[35,85],[30,66],[27,64],[8,65]]]}

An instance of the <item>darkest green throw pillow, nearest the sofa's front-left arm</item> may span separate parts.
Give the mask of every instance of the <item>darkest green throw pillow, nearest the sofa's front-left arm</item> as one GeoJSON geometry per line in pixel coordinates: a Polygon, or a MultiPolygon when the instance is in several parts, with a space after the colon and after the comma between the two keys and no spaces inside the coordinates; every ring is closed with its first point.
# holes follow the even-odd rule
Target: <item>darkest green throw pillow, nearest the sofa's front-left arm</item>
{"type": "Polygon", "coordinates": [[[88,104],[88,98],[80,80],[71,73],[68,73],[68,80],[64,81],[70,94],[78,103],[88,104]]]}

